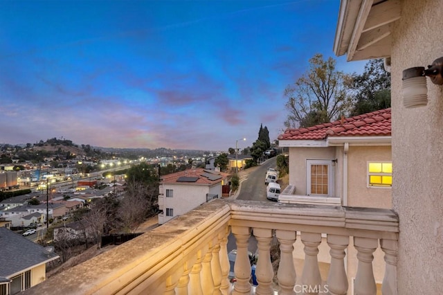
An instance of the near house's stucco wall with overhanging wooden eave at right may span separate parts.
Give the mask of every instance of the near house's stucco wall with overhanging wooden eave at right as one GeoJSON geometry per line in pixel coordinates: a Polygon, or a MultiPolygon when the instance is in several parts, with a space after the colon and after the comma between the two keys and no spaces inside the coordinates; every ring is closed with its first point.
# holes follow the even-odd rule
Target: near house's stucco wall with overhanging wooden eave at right
{"type": "Polygon", "coordinates": [[[428,73],[437,79],[423,75],[442,56],[443,40],[436,33],[442,15],[443,2],[432,0],[341,1],[338,15],[335,54],[348,61],[383,57],[391,74],[398,294],[442,292],[442,69],[428,73]],[[404,70],[417,66],[423,67],[419,74],[404,80],[404,70]],[[410,93],[421,94],[420,102],[405,100],[410,93]]]}

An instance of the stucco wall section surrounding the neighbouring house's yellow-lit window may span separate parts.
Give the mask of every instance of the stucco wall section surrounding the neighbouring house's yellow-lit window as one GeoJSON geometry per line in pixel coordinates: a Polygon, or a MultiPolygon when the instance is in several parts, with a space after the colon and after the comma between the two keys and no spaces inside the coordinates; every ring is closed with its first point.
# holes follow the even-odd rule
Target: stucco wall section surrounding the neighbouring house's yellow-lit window
{"type": "Polygon", "coordinates": [[[350,146],[347,152],[347,206],[392,208],[391,188],[368,188],[368,161],[392,161],[390,146],[350,146]]]}

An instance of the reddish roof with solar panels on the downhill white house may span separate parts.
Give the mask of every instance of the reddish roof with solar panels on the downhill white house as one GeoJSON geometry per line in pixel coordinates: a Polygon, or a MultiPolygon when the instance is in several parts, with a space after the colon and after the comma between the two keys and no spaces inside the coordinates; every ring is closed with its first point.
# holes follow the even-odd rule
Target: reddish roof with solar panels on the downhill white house
{"type": "Polygon", "coordinates": [[[203,168],[188,169],[163,175],[161,184],[206,184],[212,185],[221,182],[228,175],[203,168]]]}

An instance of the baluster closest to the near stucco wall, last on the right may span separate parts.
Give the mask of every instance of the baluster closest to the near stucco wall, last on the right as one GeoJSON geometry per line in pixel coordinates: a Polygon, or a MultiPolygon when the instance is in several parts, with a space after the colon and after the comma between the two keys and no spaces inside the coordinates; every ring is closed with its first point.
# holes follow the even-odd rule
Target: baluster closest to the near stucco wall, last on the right
{"type": "Polygon", "coordinates": [[[381,293],[383,295],[397,295],[397,241],[383,239],[380,240],[380,246],[385,253],[386,262],[381,293]]]}

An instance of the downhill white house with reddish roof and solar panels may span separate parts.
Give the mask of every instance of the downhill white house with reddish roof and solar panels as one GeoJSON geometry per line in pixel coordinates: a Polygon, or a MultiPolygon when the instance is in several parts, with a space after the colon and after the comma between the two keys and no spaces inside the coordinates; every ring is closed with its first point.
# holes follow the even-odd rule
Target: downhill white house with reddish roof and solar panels
{"type": "Polygon", "coordinates": [[[159,186],[159,224],[183,215],[193,208],[221,198],[225,173],[196,168],[161,177],[159,186]]]}

